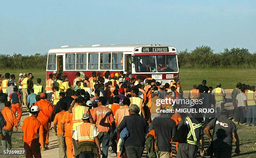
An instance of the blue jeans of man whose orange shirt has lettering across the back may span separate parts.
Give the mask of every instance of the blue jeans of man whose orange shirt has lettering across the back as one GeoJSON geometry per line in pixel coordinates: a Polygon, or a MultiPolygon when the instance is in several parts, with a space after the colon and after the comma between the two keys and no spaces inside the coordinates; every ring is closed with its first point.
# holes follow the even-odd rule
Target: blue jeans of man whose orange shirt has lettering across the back
{"type": "Polygon", "coordinates": [[[100,132],[98,137],[100,139],[100,144],[102,143],[102,158],[108,158],[110,132],[100,132]]]}

